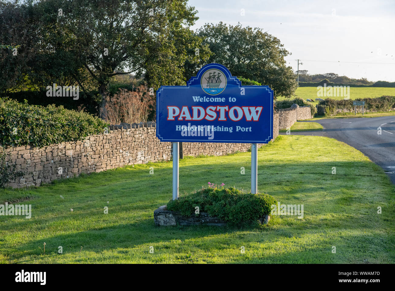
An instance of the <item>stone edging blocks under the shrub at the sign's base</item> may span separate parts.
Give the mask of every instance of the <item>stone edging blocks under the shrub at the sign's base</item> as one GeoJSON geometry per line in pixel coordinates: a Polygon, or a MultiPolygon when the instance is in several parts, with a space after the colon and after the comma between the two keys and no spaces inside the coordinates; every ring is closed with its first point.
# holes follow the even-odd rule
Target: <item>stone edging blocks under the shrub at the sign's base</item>
{"type": "MultiPolygon", "coordinates": [[[[270,215],[265,215],[259,219],[260,223],[268,223],[270,215]]],[[[158,226],[172,225],[212,225],[226,226],[226,221],[218,217],[210,216],[209,213],[201,212],[199,215],[191,215],[190,217],[182,216],[180,212],[167,210],[163,205],[154,211],[154,222],[158,226]]]]}

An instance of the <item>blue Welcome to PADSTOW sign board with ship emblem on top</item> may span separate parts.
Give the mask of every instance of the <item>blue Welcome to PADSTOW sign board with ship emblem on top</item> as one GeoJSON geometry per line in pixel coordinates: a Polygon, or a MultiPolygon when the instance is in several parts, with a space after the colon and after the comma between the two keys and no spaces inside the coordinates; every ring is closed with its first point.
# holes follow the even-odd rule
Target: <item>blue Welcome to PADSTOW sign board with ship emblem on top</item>
{"type": "Polygon", "coordinates": [[[206,65],[186,86],[156,91],[156,136],[169,142],[269,143],[273,90],[242,86],[226,67],[206,65]]]}

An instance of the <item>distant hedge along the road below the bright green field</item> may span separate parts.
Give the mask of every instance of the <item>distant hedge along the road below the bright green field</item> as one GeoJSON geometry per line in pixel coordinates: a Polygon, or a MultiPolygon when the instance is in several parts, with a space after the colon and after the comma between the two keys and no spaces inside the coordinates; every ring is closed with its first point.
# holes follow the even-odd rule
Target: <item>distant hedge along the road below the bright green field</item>
{"type": "Polygon", "coordinates": [[[392,111],[395,108],[395,96],[382,96],[378,98],[358,98],[355,100],[334,100],[327,98],[318,103],[318,114],[333,116],[337,114],[337,109],[353,112],[353,101],[365,101],[365,110],[371,112],[392,111]]]}

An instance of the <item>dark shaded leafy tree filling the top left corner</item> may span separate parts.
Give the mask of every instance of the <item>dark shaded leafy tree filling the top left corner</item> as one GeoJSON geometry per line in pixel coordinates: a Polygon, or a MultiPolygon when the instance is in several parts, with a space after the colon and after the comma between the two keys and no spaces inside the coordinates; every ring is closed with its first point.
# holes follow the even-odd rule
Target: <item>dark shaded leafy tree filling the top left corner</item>
{"type": "Polygon", "coordinates": [[[0,2],[0,43],[19,44],[17,50],[0,51],[0,91],[43,91],[53,83],[76,84],[83,71],[70,53],[70,36],[57,33],[55,7],[61,7],[60,0],[0,2]]]}

